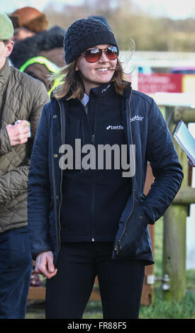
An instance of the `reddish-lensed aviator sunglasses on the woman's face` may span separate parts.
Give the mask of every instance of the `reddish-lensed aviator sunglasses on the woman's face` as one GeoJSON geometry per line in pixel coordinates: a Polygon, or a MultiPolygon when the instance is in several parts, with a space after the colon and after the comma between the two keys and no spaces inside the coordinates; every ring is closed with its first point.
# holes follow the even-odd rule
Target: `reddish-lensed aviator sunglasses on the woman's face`
{"type": "Polygon", "coordinates": [[[98,62],[101,59],[102,52],[105,52],[108,60],[116,60],[118,55],[118,50],[116,46],[108,46],[106,49],[91,49],[83,52],[81,55],[85,57],[87,62],[91,64],[93,62],[98,62]]]}

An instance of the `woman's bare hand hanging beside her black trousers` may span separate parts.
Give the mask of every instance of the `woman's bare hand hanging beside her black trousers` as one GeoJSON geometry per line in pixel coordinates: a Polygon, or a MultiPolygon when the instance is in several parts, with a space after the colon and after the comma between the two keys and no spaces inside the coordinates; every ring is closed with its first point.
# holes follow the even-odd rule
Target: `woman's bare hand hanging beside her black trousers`
{"type": "Polygon", "coordinates": [[[43,274],[46,278],[56,275],[57,269],[53,264],[53,254],[51,251],[41,252],[36,257],[35,273],[43,274]]]}

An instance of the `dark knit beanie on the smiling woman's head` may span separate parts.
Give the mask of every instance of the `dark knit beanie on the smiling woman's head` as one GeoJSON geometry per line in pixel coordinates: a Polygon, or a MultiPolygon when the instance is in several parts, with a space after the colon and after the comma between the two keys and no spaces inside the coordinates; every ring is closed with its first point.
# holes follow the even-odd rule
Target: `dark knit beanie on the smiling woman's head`
{"type": "Polygon", "coordinates": [[[81,18],[67,29],[65,34],[65,61],[67,64],[77,59],[82,52],[101,44],[117,47],[116,39],[109,28],[95,18],[81,18]]]}

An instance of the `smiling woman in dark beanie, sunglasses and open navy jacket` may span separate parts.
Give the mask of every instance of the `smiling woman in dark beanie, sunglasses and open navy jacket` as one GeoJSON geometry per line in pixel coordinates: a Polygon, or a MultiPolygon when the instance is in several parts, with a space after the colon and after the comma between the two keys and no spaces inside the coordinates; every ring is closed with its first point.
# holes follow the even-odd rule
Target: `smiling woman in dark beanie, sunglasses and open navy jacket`
{"type": "Polygon", "coordinates": [[[138,318],[145,265],[154,263],[147,225],[182,183],[165,120],[152,98],[123,79],[118,52],[101,21],[72,23],[62,84],[38,125],[28,222],[35,270],[48,278],[46,318],[81,318],[95,276],[104,318],[138,318]],[[116,150],[102,160],[105,145],[116,150]],[[135,147],[129,171],[122,147],[135,147]],[[145,198],[147,161],[155,183],[145,198]]]}

